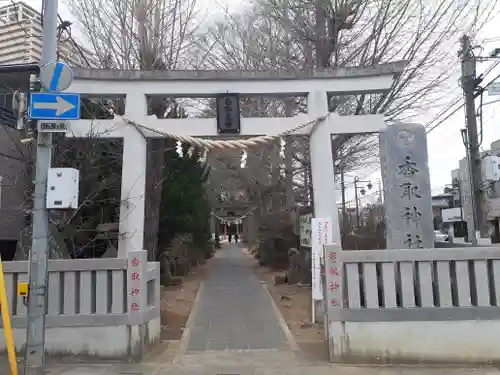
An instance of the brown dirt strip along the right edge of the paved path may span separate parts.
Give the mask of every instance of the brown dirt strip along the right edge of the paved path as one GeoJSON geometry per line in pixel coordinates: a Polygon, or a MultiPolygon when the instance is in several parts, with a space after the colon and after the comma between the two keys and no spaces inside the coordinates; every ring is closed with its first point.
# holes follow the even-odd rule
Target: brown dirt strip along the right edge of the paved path
{"type": "Polygon", "coordinates": [[[284,272],[259,266],[251,254],[247,255],[255,275],[267,283],[302,354],[309,360],[328,361],[324,328],[311,323],[311,288],[287,284],[274,285],[274,275],[284,275],[284,272]]]}

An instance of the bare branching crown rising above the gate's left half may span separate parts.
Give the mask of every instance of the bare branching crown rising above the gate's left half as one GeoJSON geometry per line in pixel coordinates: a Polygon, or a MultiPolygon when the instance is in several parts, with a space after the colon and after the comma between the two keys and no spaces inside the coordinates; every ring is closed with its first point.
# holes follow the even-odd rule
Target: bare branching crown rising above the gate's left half
{"type": "Polygon", "coordinates": [[[102,67],[182,69],[190,64],[196,0],[67,1],[102,67]]]}

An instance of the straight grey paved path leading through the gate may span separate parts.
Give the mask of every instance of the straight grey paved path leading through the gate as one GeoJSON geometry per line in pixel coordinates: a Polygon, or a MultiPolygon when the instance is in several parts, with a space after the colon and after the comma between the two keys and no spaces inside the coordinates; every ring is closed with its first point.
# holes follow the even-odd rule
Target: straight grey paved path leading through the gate
{"type": "Polygon", "coordinates": [[[188,327],[187,353],[289,349],[269,294],[241,248],[228,244],[215,261],[188,327]]]}

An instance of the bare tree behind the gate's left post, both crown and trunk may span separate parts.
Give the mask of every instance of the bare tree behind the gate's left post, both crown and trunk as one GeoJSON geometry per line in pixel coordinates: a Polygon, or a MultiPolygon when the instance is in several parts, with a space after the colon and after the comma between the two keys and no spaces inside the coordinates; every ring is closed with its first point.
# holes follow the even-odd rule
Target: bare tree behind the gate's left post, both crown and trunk
{"type": "MultiPolygon", "coordinates": [[[[98,67],[174,70],[190,63],[189,48],[196,31],[195,0],[82,0],[67,1],[67,5],[83,34],[80,42],[98,67]]],[[[113,106],[122,112],[124,99],[114,100],[113,106]]],[[[148,98],[148,112],[165,118],[178,114],[179,108],[175,98],[155,96],[148,98]]],[[[165,139],[148,140],[144,248],[149,250],[150,260],[158,255],[161,181],[167,148],[165,139]]]]}

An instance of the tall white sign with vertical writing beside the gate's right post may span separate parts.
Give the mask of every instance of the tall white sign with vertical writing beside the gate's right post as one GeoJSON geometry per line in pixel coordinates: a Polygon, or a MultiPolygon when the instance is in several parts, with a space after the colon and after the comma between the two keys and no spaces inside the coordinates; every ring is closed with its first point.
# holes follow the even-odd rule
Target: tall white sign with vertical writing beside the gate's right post
{"type": "Polygon", "coordinates": [[[311,220],[311,272],[312,297],[316,301],[323,299],[321,279],[321,263],[324,257],[323,246],[333,243],[333,226],[331,218],[313,218],[311,220]]]}

